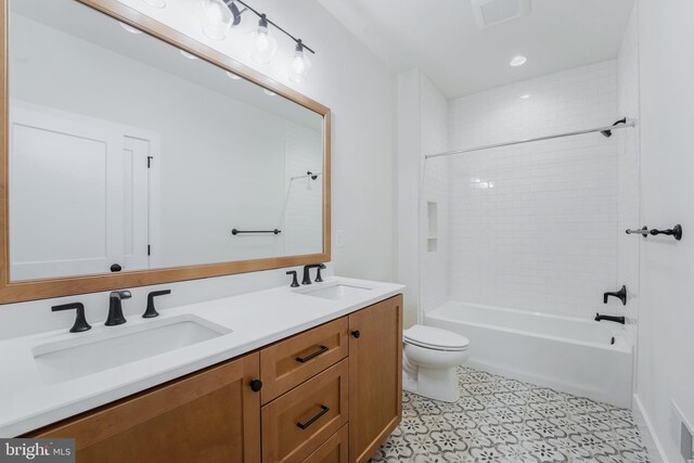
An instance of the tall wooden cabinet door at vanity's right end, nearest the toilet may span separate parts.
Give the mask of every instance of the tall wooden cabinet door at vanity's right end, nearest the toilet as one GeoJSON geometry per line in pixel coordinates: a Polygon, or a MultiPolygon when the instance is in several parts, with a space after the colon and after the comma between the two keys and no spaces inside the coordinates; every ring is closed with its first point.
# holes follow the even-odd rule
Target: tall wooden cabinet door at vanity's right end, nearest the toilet
{"type": "Polygon", "coordinates": [[[367,462],[400,423],[402,296],[349,316],[349,461],[367,462]]]}

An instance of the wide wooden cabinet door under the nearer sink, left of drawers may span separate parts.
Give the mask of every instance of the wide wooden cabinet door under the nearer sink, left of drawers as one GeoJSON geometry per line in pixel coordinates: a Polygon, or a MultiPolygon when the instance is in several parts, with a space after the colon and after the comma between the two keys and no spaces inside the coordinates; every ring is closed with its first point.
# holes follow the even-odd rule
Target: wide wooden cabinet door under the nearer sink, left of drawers
{"type": "Polygon", "coordinates": [[[76,439],[78,463],[260,462],[259,356],[213,366],[34,433],[76,439]]]}

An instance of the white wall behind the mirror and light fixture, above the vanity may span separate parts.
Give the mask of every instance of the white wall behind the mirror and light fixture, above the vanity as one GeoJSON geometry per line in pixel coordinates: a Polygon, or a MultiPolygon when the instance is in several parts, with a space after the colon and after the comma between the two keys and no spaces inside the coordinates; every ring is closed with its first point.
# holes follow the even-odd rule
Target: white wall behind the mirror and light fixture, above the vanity
{"type": "MultiPolygon", "coordinates": [[[[197,2],[169,1],[164,10],[150,9],[140,0],[124,3],[190,34],[195,39],[205,40],[192,11],[197,2]]],[[[335,272],[346,276],[393,280],[395,75],[312,0],[258,0],[254,2],[254,7],[266,11],[278,23],[300,35],[317,50],[312,75],[303,85],[294,85],[288,80],[284,67],[288,57],[275,64],[255,67],[270,78],[329,106],[333,112],[332,219],[335,272]],[[335,244],[337,231],[343,232],[342,246],[335,244]]],[[[282,38],[279,41],[280,56],[288,56],[292,44],[282,38]]],[[[239,48],[239,41],[227,40],[210,44],[232,57],[248,61],[239,48]]],[[[184,285],[168,285],[185,290],[175,291],[167,301],[162,303],[171,307],[183,301],[206,300],[244,290],[259,290],[283,282],[288,284],[283,271],[256,275],[234,275],[193,281],[184,285]]],[[[146,290],[138,290],[138,294],[146,290]]],[[[9,305],[0,310],[0,326],[4,327],[0,336],[69,327],[69,316],[50,312],[51,305],[65,300],[83,300],[92,322],[105,317],[107,297],[104,293],[9,305]]],[[[142,300],[131,300],[131,310],[139,311],[142,300]]]]}

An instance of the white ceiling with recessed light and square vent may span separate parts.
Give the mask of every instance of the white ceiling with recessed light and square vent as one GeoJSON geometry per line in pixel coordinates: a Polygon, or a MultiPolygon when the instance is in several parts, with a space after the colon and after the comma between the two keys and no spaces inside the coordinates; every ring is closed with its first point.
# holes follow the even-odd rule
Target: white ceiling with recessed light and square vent
{"type": "Polygon", "coordinates": [[[479,29],[471,0],[320,0],[394,70],[420,68],[448,98],[617,56],[633,0],[531,0],[479,29]],[[528,57],[520,67],[509,62],[528,57]]]}

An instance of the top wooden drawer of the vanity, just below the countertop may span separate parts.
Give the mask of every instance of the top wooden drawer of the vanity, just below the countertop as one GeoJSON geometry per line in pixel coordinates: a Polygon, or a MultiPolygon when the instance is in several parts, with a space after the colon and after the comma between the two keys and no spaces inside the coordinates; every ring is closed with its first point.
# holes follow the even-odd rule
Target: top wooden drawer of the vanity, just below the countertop
{"type": "Polygon", "coordinates": [[[261,402],[268,403],[347,357],[348,329],[349,321],[343,317],[260,350],[261,402]]]}

